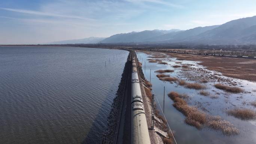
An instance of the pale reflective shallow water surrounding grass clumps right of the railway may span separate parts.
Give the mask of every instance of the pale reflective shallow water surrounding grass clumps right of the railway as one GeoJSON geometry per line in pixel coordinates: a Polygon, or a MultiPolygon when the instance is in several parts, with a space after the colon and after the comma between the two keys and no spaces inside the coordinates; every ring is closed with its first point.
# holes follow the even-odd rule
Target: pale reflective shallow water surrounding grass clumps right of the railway
{"type": "MultiPolygon", "coordinates": [[[[196,79],[198,77],[204,77],[206,74],[201,75],[199,68],[204,68],[201,65],[198,65],[198,62],[195,61],[181,61],[182,64],[188,64],[190,69],[189,71],[183,71],[183,68],[173,68],[173,65],[180,65],[176,62],[180,61],[176,58],[172,58],[171,56],[167,56],[166,58],[160,58],[163,62],[167,62],[167,65],[152,63],[146,59],[148,56],[152,56],[146,53],[137,52],[139,55],[140,62],[143,61],[143,65],[146,62],[146,70],[143,67],[143,73],[146,74],[147,80],[150,78],[150,69],[151,69],[151,83],[153,85],[153,90],[155,94],[158,96],[159,102],[161,107],[164,106],[164,86],[165,86],[165,110],[164,114],[167,117],[168,123],[172,130],[175,131],[176,141],[178,144],[253,144],[256,143],[256,120],[240,120],[232,116],[228,116],[226,114],[226,110],[234,108],[234,107],[246,107],[252,110],[256,110],[255,107],[250,105],[251,101],[256,100],[256,92],[253,91],[256,89],[255,82],[249,82],[247,80],[240,80],[229,78],[225,76],[218,76],[222,79],[225,79],[223,82],[224,84],[228,84],[228,80],[237,83],[237,86],[240,86],[245,90],[242,94],[231,94],[219,89],[216,89],[213,85],[215,82],[212,80],[211,82],[205,83],[207,88],[205,91],[209,92],[210,95],[218,95],[218,98],[210,98],[207,96],[202,96],[199,94],[199,90],[195,89],[188,89],[183,86],[179,86],[177,83],[169,83],[163,82],[156,77],[156,70],[165,70],[171,69],[174,70],[173,73],[169,73],[171,77],[177,77],[179,79],[186,80],[187,82],[197,82],[196,79]],[[196,70],[197,69],[197,70],[196,70]],[[194,79],[195,78],[195,79],[194,79]],[[227,137],[222,134],[220,131],[215,131],[212,129],[202,129],[198,130],[193,126],[186,125],[185,123],[185,116],[176,110],[173,107],[173,101],[168,98],[167,93],[175,91],[181,94],[187,94],[190,96],[188,100],[189,105],[193,105],[198,107],[199,110],[204,110],[206,113],[211,114],[213,116],[221,116],[223,119],[228,120],[234,126],[236,126],[240,130],[239,135],[227,137]]],[[[158,58],[159,59],[159,58],[158,58]]],[[[204,68],[205,69],[205,68],[204,68]]],[[[214,71],[207,71],[207,74],[216,73],[214,71]]],[[[199,80],[198,80],[199,81],[199,80]]],[[[157,104],[159,107],[159,104],[157,104]]]]}

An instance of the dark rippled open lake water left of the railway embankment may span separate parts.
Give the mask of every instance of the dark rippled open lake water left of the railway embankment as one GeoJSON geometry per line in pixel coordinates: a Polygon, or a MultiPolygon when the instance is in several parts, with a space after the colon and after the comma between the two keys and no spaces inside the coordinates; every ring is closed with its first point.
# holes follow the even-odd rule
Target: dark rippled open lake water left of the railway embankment
{"type": "Polygon", "coordinates": [[[125,50],[1,46],[0,144],[100,143],[127,56],[125,50]]]}

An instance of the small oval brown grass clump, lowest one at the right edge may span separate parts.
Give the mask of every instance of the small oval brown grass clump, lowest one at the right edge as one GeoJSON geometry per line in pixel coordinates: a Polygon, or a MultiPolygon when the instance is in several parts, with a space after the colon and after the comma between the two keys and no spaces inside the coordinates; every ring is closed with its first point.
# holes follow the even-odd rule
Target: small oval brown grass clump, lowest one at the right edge
{"type": "Polygon", "coordinates": [[[255,119],[256,113],[253,110],[246,108],[235,108],[233,110],[227,111],[228,115],[237,117],[241,120],[255,119]]]}

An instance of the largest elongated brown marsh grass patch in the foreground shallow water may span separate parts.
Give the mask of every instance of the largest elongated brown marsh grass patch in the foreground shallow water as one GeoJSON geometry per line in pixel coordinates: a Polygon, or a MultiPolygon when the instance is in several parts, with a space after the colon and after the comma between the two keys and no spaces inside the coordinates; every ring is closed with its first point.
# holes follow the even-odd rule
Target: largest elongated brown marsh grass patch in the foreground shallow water
{"type": "Polygon", "coordinates": [[[186,116],[185,122],[188,125],[202,129],[208,126],[217,131],[222,131],[224,135],[239,134],[238,128],[235,128],[230,122],[222,120],[220,116],[210,116],[195,107],[191,107],[182,99],[182,95],[177,92],[170,92],[168,96],[174,101],[173,106],[186,116]]]}

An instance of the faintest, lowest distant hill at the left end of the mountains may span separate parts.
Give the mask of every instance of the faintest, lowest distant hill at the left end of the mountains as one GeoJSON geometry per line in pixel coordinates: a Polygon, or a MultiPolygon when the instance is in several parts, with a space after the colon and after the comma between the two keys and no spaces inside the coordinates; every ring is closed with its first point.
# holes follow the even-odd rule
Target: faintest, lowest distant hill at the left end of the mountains
{"type": "Polygon", "coordinates": [[[98,43],[104,40],[104,37],[88,37],[85,39],[76,39],[76,40],[63,40],[58,42],[51,42],[49,44],[77,44],[77,43],[98,43]]]}

